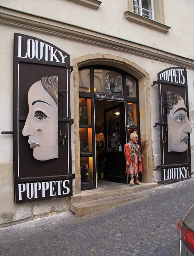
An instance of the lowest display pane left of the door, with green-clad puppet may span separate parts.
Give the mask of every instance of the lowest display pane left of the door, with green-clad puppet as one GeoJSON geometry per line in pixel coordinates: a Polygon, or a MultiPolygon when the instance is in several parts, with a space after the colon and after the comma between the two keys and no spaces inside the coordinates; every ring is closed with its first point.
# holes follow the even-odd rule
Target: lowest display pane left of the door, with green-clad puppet
{"type": "Polygon", "coordinates": [[[80,158],[81,183],[93,181],[93,157],[80,158]]]}

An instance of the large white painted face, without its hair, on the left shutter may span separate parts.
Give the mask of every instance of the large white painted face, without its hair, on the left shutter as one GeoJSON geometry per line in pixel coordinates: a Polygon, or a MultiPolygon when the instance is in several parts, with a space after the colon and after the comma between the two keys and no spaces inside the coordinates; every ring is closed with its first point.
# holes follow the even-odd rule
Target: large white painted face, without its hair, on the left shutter
{"type": "Polygon", "coordinates": [[[22,134],[37,160],[58,158],[58,106],[41,81],[28,92],[29,113],[22,134]]]}

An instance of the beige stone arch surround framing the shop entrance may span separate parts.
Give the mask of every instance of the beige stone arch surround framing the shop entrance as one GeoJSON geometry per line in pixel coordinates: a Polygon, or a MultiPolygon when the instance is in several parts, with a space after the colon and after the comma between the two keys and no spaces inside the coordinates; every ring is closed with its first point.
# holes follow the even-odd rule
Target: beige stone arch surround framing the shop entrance
{"type": "MultiPolygon", "coordinates": [[[[120,58],[117,56],[113,56],[113,55],[104,55],[104,54],[96,54],[96,55],[87,55],[87,56],[83,56],[80,58],[77,58],[75,60],[73,60],[73,70],[74,70],[74,74],[73,74],[73,81],[74,81],[74,103],[78,102],[79,99],[79,79],[78,79],[78,72],[79,70],[85,70],[86,67],[90,68],[94,66],[94,64],[98,64],[101,65],[101,70],[102,70],[102,66],[108,66],[107,69],[109,70],[114,70],[115,67],[119,68],[117,69],[117,71],[121,70],[121,73],[123,75],[123,73],[125,73],[125,76],[128,76],[130,78],[133,78],[138,84],[139,84],[139,93],[136,95],[137,97],[139,97],[139,110],[137,110],[137,112],[139,113],[139,125],[137,125],[138,129],[139,129],[139,134],[141,133],[141,138],[146,138],[147,140],[151,141],[151,100],[150,100],[150,83],[149,83],[149,76],[148,74],[142,70],[141,67],[137,66],[136,64],[134,64],[133,62],[124,59],[124,58],[120,58]]],[[[99,66],[98,66],[99,67],[99,66]]],[[[114,70],[116,71],[116,70],[114,70]]],[[[90,76],[90,80],[93,79],[94,80],[94,73],[92,76],[90,76]]],[[[98,78],[99,80],[99,78],[98,78]]],[[[123,80],[125,81],[125,80],[123,80]]],[[[92,85],[92,83],[91,83],[92,85]]],[[[92,85],[93,89],[90,89],[90,92],[86,91],[86,92],[82,92],[83,94],[80,94],[81,99],[91,99],[91,106],[93,105],[93,107],[91,109],[94,109],[95,107],[95,86],[94,84],[92,85]],[[90,93],[91,98],[88,98],[87,96],[89,96],[90,93]],[[85,96],[84,96],[85,94],[85,96]],[[87,94],[87,95],[86,95],[87,94]]],[[[126,84],[123,87],[123,90],[126,90],[126,84]]],[[[102,93],[103,94],[103,93],[102,93]]],[[[126,107],[127,107],[127,95],[124,92],[123,95],[125,98],[125,125],[127,125],[127,111],[126,111],[126,107]]],[[[137,99],[136,97],[136,99],[137,99]]],[[[132,97],[133,98],[133,97],[132,97]]],[[[99,99],[100,100],[100,99],[99,99]]],[[[130,103],[130,102],[128,102],[130,103]]],[[[131,103],[136,103],[136,102],[131,102],[131,103]]],[[[138,107],[137,107],[138,108],[138,107]]],[[[75,179],[75,192],[79,193],[80,192],[80,185],[81,185],[81,180],[80,180],[80,147],[78,146],[78,140],[80,139],[79,136],[79,128],[80,128],[80,119],[79,119],[79,105],[77,103],[74,104],[74,117],[75,117],[75,131],[74,131],[74,142],[75,142],[75,177],[77,177],[77,179],[75,179]]],[[[92,111],[92,110],[91,110],[92,111]]],[[[94,116],[94,113],[93,113],[94,116]]],[[[95,119],[91,119],[91,123],[93,122],[93,126],[94,127],[94,122],[95,119]]],[[[133,122],[133,121],[132,121],[133,122]]],[[[91,131],[93,130],[92,127],[88,127],[91,128],[91,131]]],[[[126,127],[126,126],[125,126],[126,127]]],[[[82,127],[81,127],[82,128],[82,127]]],[[[127,132],[126,132],[127,134],[127,132]]],[[[90,136],[93,137],[93,141],[96,142],[96,138],[94,137],[95,133],[93,131],[93,133],[91,133],[90,136]]],[[[126,137],[125,137],[126,140],[126,137]]],[[[93,143],[93,145],[90,145],[90,147],[93,147],[93,151],[95,151],[95,143],[93,143]]],[[[86,153],[90,153],[90,152],[86,152],[86,153]]],[[[148,146],[148,151],[147,154],[145,155],[145,161],[144,161],[144,172],[142,175],[142,180],[143,182],[152,182],[153,181],[153,169],[152,169],[152,144],[150,143],[148,146]]],[[[92,156],[91,159],[93,159],[92,156]]],[[[96,160],[95,160],[96,161],[96,160]]],[[[89,161],[88,161],[89,162],[89,161]]],[[[90,162],[91,163],[91,162],[90,162]]],[[[95,182],[95,181],[94,181],[95,182]]],[[[95,185],[95,184],[94,184],[95,185]]]]}

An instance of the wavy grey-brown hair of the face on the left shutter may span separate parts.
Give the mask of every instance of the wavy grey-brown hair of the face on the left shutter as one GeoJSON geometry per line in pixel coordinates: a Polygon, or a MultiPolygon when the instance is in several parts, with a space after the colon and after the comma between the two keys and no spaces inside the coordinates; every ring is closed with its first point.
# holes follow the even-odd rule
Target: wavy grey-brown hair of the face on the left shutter
{"type": "Polygon", "coordinates": [[[45,76],[41,78],[43,88],[54,99],[58,106],[58,76],[45,76]]]}

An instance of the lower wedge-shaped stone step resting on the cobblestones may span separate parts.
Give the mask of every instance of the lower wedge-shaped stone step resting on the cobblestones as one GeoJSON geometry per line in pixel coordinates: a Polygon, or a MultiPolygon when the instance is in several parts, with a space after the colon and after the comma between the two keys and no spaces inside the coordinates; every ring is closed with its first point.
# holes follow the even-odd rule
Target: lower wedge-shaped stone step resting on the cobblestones
{"type": "Polygon", "coordinates": [[[76,217],[81,217],[89,215],[94,212],[99,212],[101,210],[109,209],[117,205],[125,204],[130,201],[137,200],[139,198],[145,197],[144,192],[119,195],[109,198],[103,198],[98,200],[86,201],[81,203],[70,204],[70,210],[75,213],[76,217]]]}

